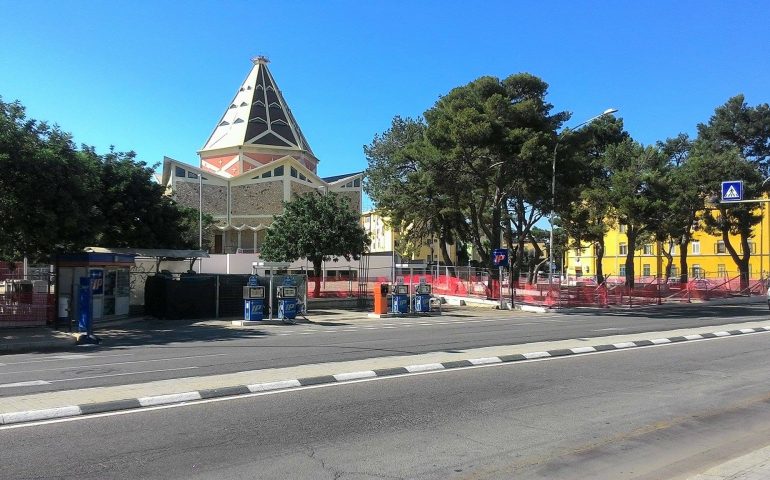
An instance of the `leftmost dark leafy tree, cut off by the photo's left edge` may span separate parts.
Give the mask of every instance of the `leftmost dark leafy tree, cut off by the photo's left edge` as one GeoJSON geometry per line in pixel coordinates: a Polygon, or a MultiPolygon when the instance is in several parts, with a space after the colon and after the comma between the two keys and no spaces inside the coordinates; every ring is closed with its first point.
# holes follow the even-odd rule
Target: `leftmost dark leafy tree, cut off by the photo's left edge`
{"type": "Polygon", "coordinates": [[[99,164],[57,126],[0,98],[0,257],[45,261],[83,248],[96,231],[99,164]]]}

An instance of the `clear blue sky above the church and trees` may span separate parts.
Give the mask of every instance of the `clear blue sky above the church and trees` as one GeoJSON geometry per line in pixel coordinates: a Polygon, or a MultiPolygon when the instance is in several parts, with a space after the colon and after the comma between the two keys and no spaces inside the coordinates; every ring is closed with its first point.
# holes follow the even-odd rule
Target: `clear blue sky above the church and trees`
{"type": "Polygon", "coordinates": [[[568,125],[608,107],[648,144],[743,93],[770,99],[767,1],[0,0],[0,95],[75,141],[197,164],[251,68],[270,69],[319,174],[482,75],[530,72],[568,125]]]}

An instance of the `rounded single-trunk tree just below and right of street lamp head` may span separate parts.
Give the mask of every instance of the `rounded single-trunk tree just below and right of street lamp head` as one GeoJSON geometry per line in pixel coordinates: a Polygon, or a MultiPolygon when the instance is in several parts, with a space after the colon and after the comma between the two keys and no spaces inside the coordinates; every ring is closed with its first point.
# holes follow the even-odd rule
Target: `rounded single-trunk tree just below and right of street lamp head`
{"type": "Polygon", "coordinates": [[[626,285],[634,286],[634,253],[667,213],[670,194],[666,182],[668,162],[655,147],[643,147],[630,139],[611,145],[605,156],[611,218],[626,226],[626,285]]]}

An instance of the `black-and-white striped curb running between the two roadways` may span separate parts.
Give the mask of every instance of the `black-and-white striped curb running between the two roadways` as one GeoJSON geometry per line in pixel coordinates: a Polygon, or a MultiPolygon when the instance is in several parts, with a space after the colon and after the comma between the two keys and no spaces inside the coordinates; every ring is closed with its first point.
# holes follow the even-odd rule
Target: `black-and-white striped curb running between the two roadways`
{"type": "Polygon", "coordinates": [[[419,365],[406,365],[404,367],[383,368],[378,370],[364,370],[358,372],[343,372],[334,375],[321,375],[317,377],[295,378],[278,382],[257,383],[253,385],[235,385],[205,389],[195,392],[175,393],[171,395],[156,395],[151,397],[131,398],[100,403],[86,403],[82,405],[68,405],[59,408],[45,410],[29,410],[22,412],[10,412],[0,414],[0,425],[51,420],[55,418],[74,417],[78,415],[91,415],[118,410],[141,409],[143,407],[181,404],[201,399],[232,397],[249,393],[269,392],[276,390],[290,390],[297,387],[311,385],[325,385],[331,383],[346,383],[368,378],[393,377],[408,373],[435,372],[456,368],[468,368],[492,364],[521,362],[540,358],[557,358],[575,355],[585,355],[594,352],[606,352],[613,350],[627,350],[632,348],[649,347],[652,345],[666,345],[671,343],[691,342],[710,338],[728,337],[734,335],[746,335],[752,333],[770,332],[770,325],[757,328],[742,328],[740,330],[706,332],[686,336],[653,338],[621,342],[613,344],[593,345],[575,348],[563,348],[524,354],[501,355],[499,357],[469,358],[465,360],[453,360],[443,363],[426,363],[419,365]]]}

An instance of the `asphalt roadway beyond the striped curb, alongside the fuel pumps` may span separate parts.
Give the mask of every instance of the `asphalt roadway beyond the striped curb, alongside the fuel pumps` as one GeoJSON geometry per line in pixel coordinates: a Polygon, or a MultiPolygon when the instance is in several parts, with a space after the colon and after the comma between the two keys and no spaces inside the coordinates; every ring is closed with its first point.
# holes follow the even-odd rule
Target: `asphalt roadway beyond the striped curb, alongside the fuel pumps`
{"type": "MultiPolygon", "coordinates": [[[[455,310],[443,317],[257,329],[139,322],[98,350],[0,357],[0,397],[391,355],[700,328],[768,318],[761,303],[674,305],[594,314],[455,310]]],[[[323,317],[316,317],[323,319],[323,317]]]]}

